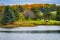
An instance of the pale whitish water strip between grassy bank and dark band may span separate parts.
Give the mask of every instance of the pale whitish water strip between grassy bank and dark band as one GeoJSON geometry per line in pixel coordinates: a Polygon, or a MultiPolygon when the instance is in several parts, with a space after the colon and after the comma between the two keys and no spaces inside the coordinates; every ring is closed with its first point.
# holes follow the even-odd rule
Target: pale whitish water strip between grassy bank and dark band
{"type": "Polygon", "coordinates": [[[35,26],[35,27],[18,27],[18,28],[11,28],[11,29],[5,29],[0,28],[0,31],[31,31],[31,30],[60,30],[60,26],[35,26]]]}

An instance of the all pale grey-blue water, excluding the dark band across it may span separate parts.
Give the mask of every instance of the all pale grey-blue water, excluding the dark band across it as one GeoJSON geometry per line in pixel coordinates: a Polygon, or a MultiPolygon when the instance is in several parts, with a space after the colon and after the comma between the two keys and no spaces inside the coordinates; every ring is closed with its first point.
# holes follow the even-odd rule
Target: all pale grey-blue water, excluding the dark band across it
{"type": "Polygon", "coordinates": [[[21,31],[44,31],[44,30],[60,30],[60,26],[37,26],[37,27],[19,27],[12,29],[0,28],[0,40],[60,40],[60,33],[26,33],[21,31]],[[14,32],[18,31],[18,32],[14,32]]]}

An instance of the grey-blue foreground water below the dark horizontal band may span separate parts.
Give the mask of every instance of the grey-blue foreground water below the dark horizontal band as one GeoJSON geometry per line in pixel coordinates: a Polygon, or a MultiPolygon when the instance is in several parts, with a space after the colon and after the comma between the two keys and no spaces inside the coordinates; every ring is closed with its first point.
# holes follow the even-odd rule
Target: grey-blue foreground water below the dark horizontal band
{"type": "Polygon", "coordinates": [[[0,32],[0,40],[60,40],[60,33],[0,32]]]}

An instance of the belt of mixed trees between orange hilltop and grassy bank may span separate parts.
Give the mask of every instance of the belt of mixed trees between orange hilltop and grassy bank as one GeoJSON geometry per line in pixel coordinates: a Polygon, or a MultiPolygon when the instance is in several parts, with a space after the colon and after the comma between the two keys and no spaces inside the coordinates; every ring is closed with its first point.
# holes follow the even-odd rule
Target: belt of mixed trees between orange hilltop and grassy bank
{"type": "Polygon", "coordinates": [[[2,10],[2,24],[11,24],[15,21],[21,20],[56,20],[60,21],[60,6],[56,4],[46,4],[46,6],[40,6],[37,9],[35,6],[32,6],[30,9],[25,8],[21,5],[13,8],[12,6],[5,6],[5,9],[2,10]],[[55,13],[51,13],[55,12],[55,13]]]}

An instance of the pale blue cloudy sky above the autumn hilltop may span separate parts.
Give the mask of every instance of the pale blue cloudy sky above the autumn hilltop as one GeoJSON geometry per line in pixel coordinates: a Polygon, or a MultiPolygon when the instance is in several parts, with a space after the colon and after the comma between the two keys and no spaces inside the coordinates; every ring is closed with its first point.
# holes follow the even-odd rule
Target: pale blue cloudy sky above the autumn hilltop
{"type": "Polygon", "coordinates": [[[52,3],[60,4],[60,0],[0,0],[3,4],[34,4],[34,3],[52,3]]]}

